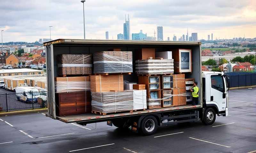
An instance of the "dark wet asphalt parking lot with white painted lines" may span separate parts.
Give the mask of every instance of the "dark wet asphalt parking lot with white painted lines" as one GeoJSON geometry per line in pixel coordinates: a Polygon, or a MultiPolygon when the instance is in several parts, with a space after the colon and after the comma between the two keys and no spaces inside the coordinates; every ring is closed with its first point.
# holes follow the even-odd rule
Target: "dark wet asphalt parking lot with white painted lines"
{"type": "Polygon", "coordinates": [[[229,91],[229,115],[211,126],[201,121],[158,128],[141,136],[106,122],[85,127],[44,113],[0,116],[0,152],[256,152],[256,88],[229,91]]]}

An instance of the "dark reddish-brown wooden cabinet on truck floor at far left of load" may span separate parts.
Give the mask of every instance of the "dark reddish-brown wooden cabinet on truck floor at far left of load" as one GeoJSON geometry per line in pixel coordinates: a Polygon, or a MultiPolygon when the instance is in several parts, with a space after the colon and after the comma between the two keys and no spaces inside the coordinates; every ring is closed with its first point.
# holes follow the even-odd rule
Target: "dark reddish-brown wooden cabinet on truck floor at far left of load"
{"type": "Polygon", "coordinates": [[[56,115],[74,115],[91,113],[91,92],[79,91],[69,93],[56,93],[56,115]]]}

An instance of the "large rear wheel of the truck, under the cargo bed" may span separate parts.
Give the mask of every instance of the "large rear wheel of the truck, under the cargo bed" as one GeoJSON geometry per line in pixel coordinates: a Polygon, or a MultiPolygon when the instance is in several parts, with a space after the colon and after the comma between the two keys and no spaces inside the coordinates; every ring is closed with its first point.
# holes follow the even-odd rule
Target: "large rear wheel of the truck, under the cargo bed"
{"type": "Polygon", "coordinates": [[[153,135],[157,128],[158,124],[154,116],[147,116],[141,121],[140,132],[143,135],[153,135]]]}

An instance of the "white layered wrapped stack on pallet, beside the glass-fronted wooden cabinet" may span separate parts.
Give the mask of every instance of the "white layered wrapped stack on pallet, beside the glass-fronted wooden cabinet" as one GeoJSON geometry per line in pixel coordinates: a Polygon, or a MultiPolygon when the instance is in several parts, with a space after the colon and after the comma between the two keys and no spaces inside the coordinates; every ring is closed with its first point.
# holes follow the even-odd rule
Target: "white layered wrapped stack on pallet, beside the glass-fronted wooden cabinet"
{"type": "Polygon", "coordinates": [[[173,73],[173,59],[136,60],[137,74],[171,74],[173,73]]]}

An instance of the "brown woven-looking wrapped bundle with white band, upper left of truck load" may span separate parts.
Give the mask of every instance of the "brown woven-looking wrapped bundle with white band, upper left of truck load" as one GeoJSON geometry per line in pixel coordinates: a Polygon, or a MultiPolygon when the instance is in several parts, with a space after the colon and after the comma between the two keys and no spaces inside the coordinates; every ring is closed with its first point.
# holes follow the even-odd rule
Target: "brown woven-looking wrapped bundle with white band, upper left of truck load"
{"type": "Polygon", "coordinates": [[[92,74],[92,55],[61,54],[58,55],[58,74],[89,75],[92,74]]]}

